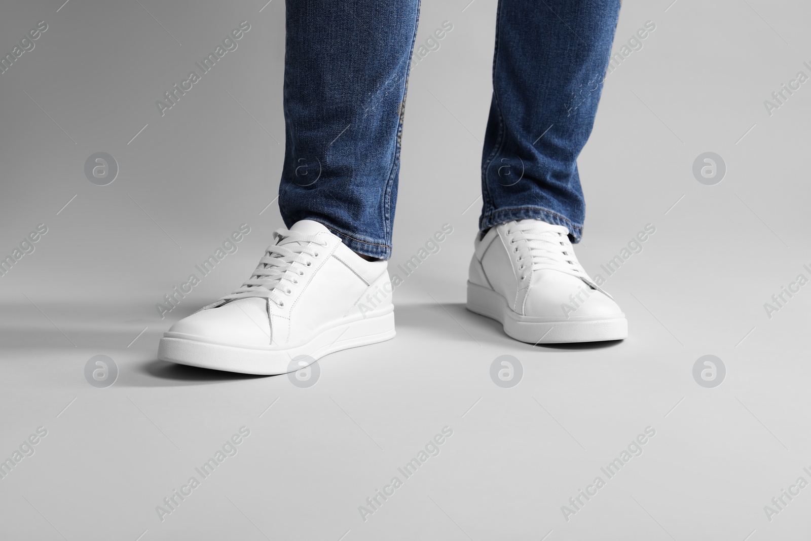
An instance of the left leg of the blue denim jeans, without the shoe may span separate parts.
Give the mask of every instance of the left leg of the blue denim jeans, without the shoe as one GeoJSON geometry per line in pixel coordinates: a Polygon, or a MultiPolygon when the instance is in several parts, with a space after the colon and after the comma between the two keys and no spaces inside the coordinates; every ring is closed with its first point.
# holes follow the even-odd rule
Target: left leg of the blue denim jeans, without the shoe
{"type": "Polygon", "coordinates": [[[419,0],[287,0],[285,225],[388,259],[419,0]]]}

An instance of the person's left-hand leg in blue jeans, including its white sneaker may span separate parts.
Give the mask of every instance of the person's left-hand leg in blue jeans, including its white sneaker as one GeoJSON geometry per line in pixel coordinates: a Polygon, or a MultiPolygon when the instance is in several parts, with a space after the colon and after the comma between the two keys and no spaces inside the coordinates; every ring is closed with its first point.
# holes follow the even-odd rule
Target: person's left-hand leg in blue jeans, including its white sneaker
{"type": "Polygon", "coordinates": [[[289,229],[273,233],[241,287],[172,325],[158,359],[282,374],[394,337],[385,259],[419,2],[286,6],[279,208],[289,229]]]}

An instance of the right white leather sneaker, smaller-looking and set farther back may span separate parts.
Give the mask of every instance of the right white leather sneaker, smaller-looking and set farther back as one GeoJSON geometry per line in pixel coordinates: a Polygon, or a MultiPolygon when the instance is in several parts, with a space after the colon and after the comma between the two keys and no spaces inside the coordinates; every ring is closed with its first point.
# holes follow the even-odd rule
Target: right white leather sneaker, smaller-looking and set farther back
{"type": "Polygon", "coordinates": [[[574,255],[569,230],[509,221],[476,235],[467,309],[530,344],[620,340],[628,321],[574,255]]]}

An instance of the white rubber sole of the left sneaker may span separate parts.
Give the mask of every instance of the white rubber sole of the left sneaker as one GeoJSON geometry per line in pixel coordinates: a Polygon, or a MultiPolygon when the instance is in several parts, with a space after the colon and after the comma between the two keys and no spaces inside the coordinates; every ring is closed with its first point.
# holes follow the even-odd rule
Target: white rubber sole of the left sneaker
{"type": "Polygon", "coordinates": [[[392,307],[380,316],[320,328],[309,339],[285,347],[240,347],[212,343],[204,337],[164,333],[157,358],[192,367],[270,376],[296,371],[336,351],[390,340],[394,335],[392,307]],[[297,362],[291,367],[293,359],[297,362]]]}

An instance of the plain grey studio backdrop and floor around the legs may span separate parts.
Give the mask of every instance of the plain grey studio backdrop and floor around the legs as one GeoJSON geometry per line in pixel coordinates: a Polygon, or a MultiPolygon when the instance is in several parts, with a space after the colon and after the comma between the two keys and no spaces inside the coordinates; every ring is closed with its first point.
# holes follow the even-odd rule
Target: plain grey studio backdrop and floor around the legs
{"type": "Polygon", "coordinates": [[[496,2],[423,2],[418,41],[454,28],[412,71],[393,264],[453,234],[397,289],[397,337],[321,359],[309,388],[155,359],[282,225],[284,2],[2,4],[2,54],[49,28],[0,75],[0,253],[49,232],[0,277],[0,458],[48,430],[0,480],[0,537],[807,539],[811,488],[772,521],[763,506],[811,481],[811,286],[771,318],[763,304],[811,277],[811,90],[771,116],[763,101],[811,75],[811,9],[671,2],[624,2],[615,50],[656,30],[608,75],[580,160],[589,273],[656,227],[605,286],[629,339],[533,347],[465,311],[496,2]],[[242,20],[238,49],[161,118],[155,101],[242,20]],[[84,176],[94,152],[118,161],[109,186],[84,176]],[[702,152],[723,157],[723,182],[693,178],[702,152]],[[242,222],[237,253],[161,320],[155,303],[242,222]],[[97,354],[118,365],[106,389],[84,379],[97,354]],[[511,389],[490,379],[504,354],[523,367],[511,389]],[[693,380],[705,354],[726,367],[714,389],[693,380]],[[160,522],[155,506],[243,425],[238,454],[160,522]],[[358,506],[444,426],[440,455],[363,522],[358,506]],[[648,426],[642,456],[566,522],[560,507],[648,426]]]}

